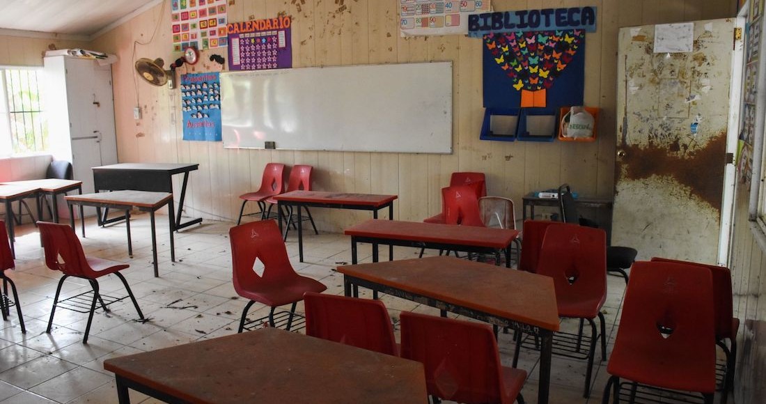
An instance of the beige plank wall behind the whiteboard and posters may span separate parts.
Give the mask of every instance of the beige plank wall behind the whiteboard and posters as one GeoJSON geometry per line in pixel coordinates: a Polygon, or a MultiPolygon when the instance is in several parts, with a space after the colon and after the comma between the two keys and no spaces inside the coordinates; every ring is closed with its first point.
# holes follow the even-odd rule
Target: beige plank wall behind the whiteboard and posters
{"type": "MultiPolygon", "coordinates": [[[[495,0],[496,10],[597,7],[597,32],[586,39],[585,103],[601,107],[603,118],[600,138],[594,143],[488,142],[479,140],[483,118],[481,41],[455,35],[401,38],[398,4],[395,0],[232,0],[228,18],[247,21],[290,15],[294,67],[453,61],[453,154],[223,149],[221,143],[182,141],[178,90],[152,87],[133,73],[138,57],[163,57],[166,65],[178,57],[170,51],[169,2],[164,2],[91,45],[119,55],[113,67],[119,160],[200,163],[201,169],[191,176],[187,214],[228,220],[237,216],[237,196],[257,189],[269,162],[315,166],[315,189],[397,194],[394,216],[404,220],[421,220],[439,212],[440,188],[447,186],[454,171],[485,172],[489,194],[512,198],[517,215],[523,194],[562,182],[570,183],[581,195],[610,197],[617,29],[735,13],[733,2],[704,0],[495,0]],[[142,120],[133,119],[136,105],[142,108],[142,120]]],[[[221,70],[208,57],[214,53],[225,56],[224,52],[205,51],[200,64],[178,71],[221,70]]],[[[368,217],[364,212],[319,209],[315,215],[319,228],[329,232],[339,232],[368,217]]]]}

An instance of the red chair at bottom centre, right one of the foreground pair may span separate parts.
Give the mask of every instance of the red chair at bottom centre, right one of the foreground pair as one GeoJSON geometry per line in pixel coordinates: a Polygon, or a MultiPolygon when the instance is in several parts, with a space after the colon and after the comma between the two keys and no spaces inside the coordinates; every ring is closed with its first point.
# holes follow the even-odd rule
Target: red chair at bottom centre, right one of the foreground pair
{"type": "Polygon", "coordinates": [[[524,402],[526,372],[500,364],[492,327],[401,313],[401,356],[423,363],[428,394],[466,403],[524,402]]]}

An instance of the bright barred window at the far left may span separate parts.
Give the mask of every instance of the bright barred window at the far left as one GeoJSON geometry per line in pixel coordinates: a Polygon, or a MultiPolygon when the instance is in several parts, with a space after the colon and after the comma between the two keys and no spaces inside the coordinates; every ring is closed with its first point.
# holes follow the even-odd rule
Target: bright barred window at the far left
{"type": "Polygon", "coordinates": [[[48,128],[41,107],[41,69],[0,69],[0,155],[43,152],[48,128]]]}

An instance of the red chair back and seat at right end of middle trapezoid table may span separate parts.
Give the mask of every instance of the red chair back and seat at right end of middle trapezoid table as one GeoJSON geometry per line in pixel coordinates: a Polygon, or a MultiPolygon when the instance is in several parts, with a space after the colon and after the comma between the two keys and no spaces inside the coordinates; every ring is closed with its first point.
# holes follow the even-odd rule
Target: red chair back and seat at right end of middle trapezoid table
{"type": "Polygon", "coordinates": [[[606,232],[565,223],[548,225],[537,273],[553,278],[559,300],[601,297],[603,301],[607,294],[606,232]]]}

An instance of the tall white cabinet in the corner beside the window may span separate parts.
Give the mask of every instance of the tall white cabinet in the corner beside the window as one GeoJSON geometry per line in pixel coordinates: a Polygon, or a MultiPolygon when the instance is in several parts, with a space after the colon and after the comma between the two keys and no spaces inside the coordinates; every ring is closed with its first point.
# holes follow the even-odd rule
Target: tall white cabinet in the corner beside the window
{"type": "Polygon", "coordinates": [[[93,192],[90,168],[117,163],[111,67],[67,56],[44,57],[44,67],[51,154],[72,162],[83,193],[93,192]]]}

